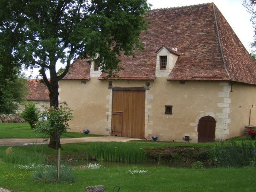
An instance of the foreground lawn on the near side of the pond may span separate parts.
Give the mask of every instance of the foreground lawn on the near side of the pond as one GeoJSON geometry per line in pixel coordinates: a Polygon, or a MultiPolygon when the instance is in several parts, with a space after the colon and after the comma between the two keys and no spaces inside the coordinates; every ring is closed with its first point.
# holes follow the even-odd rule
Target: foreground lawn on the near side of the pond
{"type": "Polygon", "coordinates": [[[83,192],[86,186],[104,185],[106,192],[252,192],[256,168],[178,169],[167,166],[101,167],[74,169],[74,183],[35,182],[33,170],[0,163],[0,186],[17,192],[83,192]],[[131,174],[129,170],[145,170],[131,174]]]}

